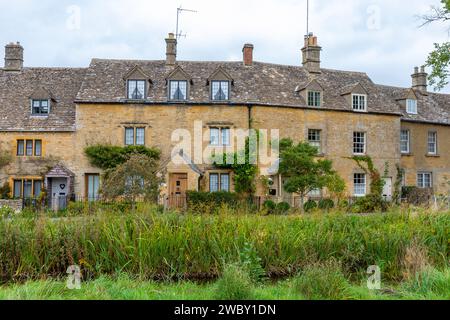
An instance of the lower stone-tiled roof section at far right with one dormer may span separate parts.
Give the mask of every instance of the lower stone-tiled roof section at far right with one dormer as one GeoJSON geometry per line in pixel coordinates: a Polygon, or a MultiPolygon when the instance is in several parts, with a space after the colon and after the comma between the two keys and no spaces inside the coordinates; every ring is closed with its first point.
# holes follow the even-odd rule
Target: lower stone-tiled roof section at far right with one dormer
{"type": "Polygon", "coordinates": [[[399,105],[404,121],[450,125],[450,94],[422,93],[411,88],[378,85],[380,90],[399,105]],[[406,112],[406,98],[414,93],[417,98],[417,115],[406,112]]]}

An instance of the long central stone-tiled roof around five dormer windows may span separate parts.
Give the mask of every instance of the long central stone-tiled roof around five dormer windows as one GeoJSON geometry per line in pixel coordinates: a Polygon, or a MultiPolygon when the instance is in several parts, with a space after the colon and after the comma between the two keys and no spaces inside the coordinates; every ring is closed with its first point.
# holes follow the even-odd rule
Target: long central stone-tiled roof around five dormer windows
{"type": "MultiPolygon", "coordinates": [[[[136,66],[148,74],[152,81],[145,103],[167,103],[167,77],[173,72],[173,66],[167,67],[165,61],[100,59],[92,60],[77,102],[125,102],[124,75],[136,66]]],[[[321,109],[352,111],[352,106],[341,93],[343,89],[359,83],[368,92],[369,112],[400,115],[397,103],[386,96],[365,73],[322,69],[321,74],[311,77],[303,67],[260,62],[244,66],[242,62],[179,61],[177,67],[181,67],[193,83],[188,103],[211,103],[208,79],[221,67],[233,79],[231,104],[310,108],[296,88],[305,87],[316,79],[324,89],[321,109]]]]}

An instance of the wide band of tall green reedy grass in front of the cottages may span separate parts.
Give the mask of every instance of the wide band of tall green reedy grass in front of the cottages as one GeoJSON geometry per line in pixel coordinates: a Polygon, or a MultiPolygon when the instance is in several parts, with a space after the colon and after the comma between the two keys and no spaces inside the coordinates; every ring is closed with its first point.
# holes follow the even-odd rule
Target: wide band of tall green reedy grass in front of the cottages
{"type": "Polygon", "coordinates": [[[127,273],[209,279],[220,276],[224,265],[238,263],[249,245],[269,277],[334,259],[347,275],[379,265],[385,279],[400,279],[413,243],[426,249],[430,265],[448,267],[448,213],[263,217],[226,211],[1,219],[0,279],[63,277],[70,265],[80,265],[85,278],[127,273]]]}

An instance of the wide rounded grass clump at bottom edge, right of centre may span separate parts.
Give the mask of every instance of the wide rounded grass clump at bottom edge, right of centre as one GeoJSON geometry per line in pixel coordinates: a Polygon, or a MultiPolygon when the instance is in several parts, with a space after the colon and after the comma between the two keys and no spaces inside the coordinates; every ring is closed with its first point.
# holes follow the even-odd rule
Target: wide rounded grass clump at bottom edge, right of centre
{"type": "Polygon", "coordinates": [[[294,287],[309,300],[344,300],[350,285],[334,263],[310,265],[294,280],[294,287]]]}

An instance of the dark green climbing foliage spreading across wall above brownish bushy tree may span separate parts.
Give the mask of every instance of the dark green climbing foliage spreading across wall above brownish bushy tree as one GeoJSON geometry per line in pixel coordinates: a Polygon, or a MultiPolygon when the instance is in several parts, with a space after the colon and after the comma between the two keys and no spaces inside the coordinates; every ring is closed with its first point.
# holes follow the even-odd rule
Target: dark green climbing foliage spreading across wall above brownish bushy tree
{"type": "Polygon", "coordinates": [[[161,154],[157,149],[144,146],[119,147],[110,145],[89,146],[85,148],[84,153],[93,166],[103,170],[114,169],[124,164],[133,154],[145,155],[154,160],[159,160],[161,154]]]}

